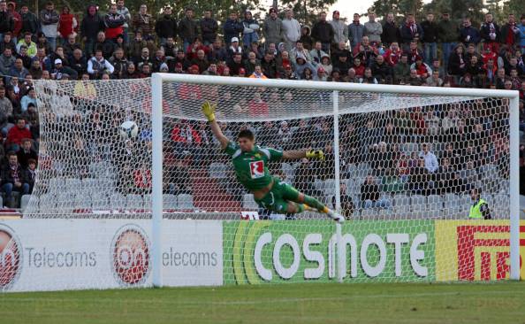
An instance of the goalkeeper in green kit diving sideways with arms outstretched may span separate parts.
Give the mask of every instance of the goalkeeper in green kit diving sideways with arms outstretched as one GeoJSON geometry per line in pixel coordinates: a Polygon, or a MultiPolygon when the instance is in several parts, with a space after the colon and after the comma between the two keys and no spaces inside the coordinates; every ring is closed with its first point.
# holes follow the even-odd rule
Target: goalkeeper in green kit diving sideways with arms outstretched
{"type": "Polygon", "coordinates": [[[237,136],[238,143],[233,143],[224,136],[215,119],[216,104],[208,101],[202,104],[202,112],[209,121],[211,132],[221,144],[226,154],[232,157],[237,180],[249,190],[255,202],[261,207],[278,213],[300,213],[304,211],[321,212],[332,220],[339,222],[345,219],[329,209],[314,197],[309,197],[291,185],[272,176],[268,163],[280,160],[300,158],[324,159],[323,150],[274,150],[255,145],[255,135],[248,129],[241,130],[237,136]]]}

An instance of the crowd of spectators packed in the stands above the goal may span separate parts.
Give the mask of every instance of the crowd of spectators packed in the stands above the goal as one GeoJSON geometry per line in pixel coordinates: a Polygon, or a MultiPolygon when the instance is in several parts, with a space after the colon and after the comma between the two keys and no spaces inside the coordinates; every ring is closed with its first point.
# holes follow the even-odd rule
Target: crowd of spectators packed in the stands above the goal
{"type": "MultiPolygon", "coordinates": [[[[231,12],[225,21],[217,21],[210,10],[204,11],[202,17],[194,17],[191,8],[172,12],[170,7],[165,7],[159,15],[148,12],[146,4],[128,9],[124,0],[100,9],[104,13],[99,12],[97,6],[88,5],[86,12],[77,15],[67,6],[55,8],[49,2],[41,12],[34,13],[27,5],[18,11],[14,2],[0,1],[0,129],[4,140],[1,148],[5,152],[2,155],[6,157],[2,164],[4,204],[11,204],[13,190],[25,194],[32,189],[31,170],[37,163],[35,150],[39,141],[33,89],[33,80],[37,79],[137,79],[164,72],[517,89],[523,110],[525,15],[519,12],[509,15],[505,22],[497,22],[487,13],[479,27],[472,26],[468,18],[460,22],[451,19],[450,12],[429,13],[421,22],[415,20],[414,14],[407,13],[400,24],[393,14],[380,22],[374,12],[369,12],[368,21],[361,24],[357,13],[346,22],[338,11],[332,12],[331,19],[321,12],[310,27],[294,19],[290,9],[281,14],[271,8],[264,19],[255,19],[252,12],[231,12]],[[179,19],[179,15],[183,18],[179,19]]],[[[272,100],[283,104],[285,94],[256,92],[247,103],[247,113],[267,110],[272,100]]],[[[464,108],[425,108],[397,112],[399,115],[394,120],[411,120],[415,128],[426,125],[428,135],[443,139],[445,128],[460,129],[461,123],[467,120],[463,116],[468,112],[464,108]]],[[[481,124],[481,132],[495,128],[486,120],[474,123],[481,124]]],[[[362,132],[366,127],[376,129],[379,125],[354,127],[356,132],[362,132]]],[[[402,129],[399,125],[395,127],[402,129]]],[[[292,126],[278,130],[288,132],[281,135],[282,139],[293,138],[290,129],[292,126]]],[[[525,113],[521,113],[521,129],[525,130],[525,113]]],[[[461,135],[458,136],[457,141],[461,135]]],[[[404,133],[405,137],[409,136],[404,133]]],[[[405,141],[408,142],[413,141],[405,141]]],[[[429,137],[422,137],[418,142],[430,143],[429,137]]],[[[301,139],[295,143],[301,143],[301,139]]],[[[384,149],[381,143],[375,144],[377,150],[387,150],[377,153],[385,157],[395,145],[387,142],[384,149]]],[[[494,150],[493,144],[484,145],[492,148],[475,145],[473,150],[476,154],[494,150]]],[[[369,146],[360,144],[360,147],[369,146]]],[[[357,148],[349,151],[353,150],[357,148]]],[[[440,157],[437,163],[427,154],[416,164],[424,163],[431,174],[438,173],[447,163],[457,166],[451,157],[440,157]],[[428,164],[434,164],[432,170],[428,164]]],[[[404,158],[409,163],[413,157],[404,158]]],[[[467,161],[463,162],[468,165],[467,161]]],[[[480,166],[476,158],[472,158],[472,163],[480,166]]],[[[389,171],[382,175],[388,178],[393,174],[389,171]]],[[[363,186],[373,189],[377,181],[374,176],[377,174],[370,174],[363,186]]],[[[433,179],[432,183],[438,181],[433,179]]],[[[409,179],[407,183],[409,189],[416,190],[409,179]]],[[[378,206],[387,204],[379,199],[364,201],[378,206]]]]}

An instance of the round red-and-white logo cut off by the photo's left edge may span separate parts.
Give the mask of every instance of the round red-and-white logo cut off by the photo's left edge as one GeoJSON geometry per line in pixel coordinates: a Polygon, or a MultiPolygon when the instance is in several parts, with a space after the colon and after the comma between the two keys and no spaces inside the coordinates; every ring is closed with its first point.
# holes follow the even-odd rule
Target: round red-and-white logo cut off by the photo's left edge
{"type": "Polygon", "coordinates": [[[22,271],[22,246],[14,231],[0,224],[0,290],[18,280],[22,271]]]}

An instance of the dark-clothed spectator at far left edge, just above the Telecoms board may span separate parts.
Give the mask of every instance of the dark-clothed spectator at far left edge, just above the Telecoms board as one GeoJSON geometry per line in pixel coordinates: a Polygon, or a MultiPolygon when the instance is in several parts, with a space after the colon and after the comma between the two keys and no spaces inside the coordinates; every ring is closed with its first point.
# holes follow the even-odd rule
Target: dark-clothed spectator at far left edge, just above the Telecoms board
{"type": "Polygon", "coordinates": [[[14,151],[7,153],[7,161],[8,163],[2,168],[2,189],[5,192],[6,205],[13,208],[15,205],[12,191],[27,195],[29,184],[23,182],[22,166],[19,165],[19,159],[14,151]]]}

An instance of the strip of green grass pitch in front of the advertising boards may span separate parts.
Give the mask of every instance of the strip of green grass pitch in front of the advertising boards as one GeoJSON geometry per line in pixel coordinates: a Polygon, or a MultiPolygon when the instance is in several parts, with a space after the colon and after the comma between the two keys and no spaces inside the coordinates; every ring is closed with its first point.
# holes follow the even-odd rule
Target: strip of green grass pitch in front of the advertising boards
{"type": "Polygon", "coordinates": [[[283,284],[0,294],[15,323],[525,323],[525,283],[283,284]]]}

